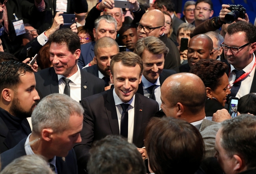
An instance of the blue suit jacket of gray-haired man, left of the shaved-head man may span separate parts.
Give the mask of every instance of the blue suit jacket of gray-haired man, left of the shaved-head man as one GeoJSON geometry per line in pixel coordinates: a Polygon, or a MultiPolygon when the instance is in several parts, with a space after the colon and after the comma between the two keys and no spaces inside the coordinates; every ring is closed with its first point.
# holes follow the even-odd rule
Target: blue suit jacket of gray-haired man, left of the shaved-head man
{"type": "Polygon", "coordinates": [[[81,54],[78,58],[78,66],[80,69],[85,67],[88,63],[91,62],[91,60],[93,60],[95,43],[96,42],[93,41],[81,45],[81,54]]]}

